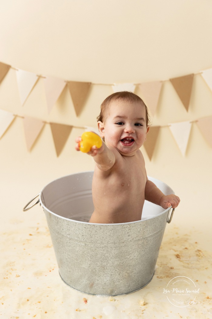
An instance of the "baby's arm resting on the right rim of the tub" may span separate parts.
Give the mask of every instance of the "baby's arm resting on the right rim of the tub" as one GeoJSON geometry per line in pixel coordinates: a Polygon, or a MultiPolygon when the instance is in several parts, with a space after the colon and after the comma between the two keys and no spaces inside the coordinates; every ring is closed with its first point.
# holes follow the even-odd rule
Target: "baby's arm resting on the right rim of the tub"
{"type": "Polygon", "coordinates": [[[145,186],[145,199],[163,207],[164,209],[167,209],[170,206],[176,208],[180,203],[180,198],[178,196],[174,194],[164,195],[161,190],[148,179],[145,186]]]}

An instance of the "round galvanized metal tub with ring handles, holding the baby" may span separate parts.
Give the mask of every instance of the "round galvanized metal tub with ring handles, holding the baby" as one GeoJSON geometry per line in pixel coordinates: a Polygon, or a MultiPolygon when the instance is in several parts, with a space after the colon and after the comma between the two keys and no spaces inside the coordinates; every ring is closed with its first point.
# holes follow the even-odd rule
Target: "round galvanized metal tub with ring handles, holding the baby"
{"type": "MultiPolygon", "coordinates": [[[[83,172],[49,183],[24,211],[38,202],[42,205],[59,274],[67,285],[94,295],[131,293],[151,281],[174,209],[145,201],[140,221],[88,223],[93,212],[92,176],[92,171],[83,172]]],[[[148,178],[165,195],[174,193],[165,183],[148,178]]]]}

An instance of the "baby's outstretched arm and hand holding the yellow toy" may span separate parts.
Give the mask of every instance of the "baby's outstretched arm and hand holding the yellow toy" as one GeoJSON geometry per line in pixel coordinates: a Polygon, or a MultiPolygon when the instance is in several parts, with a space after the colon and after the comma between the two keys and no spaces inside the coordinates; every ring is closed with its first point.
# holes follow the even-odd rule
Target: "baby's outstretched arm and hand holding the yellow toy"
{"type": "MultiPolygon", "coordinates": [[[[81,141],[81,137],[77,137],[75,142],[77,143],[75,149],[80,151],[79,142],[81,141]]],[[[93,156],[97,166],[102,171],[107,171],[113,167],[115,164],[115,154],[106,146],[105,143],[102,143],[102,146],[97,148],[97,146],[92,146],[91,150],[87,152],[87,154],[93,156]]]]}

